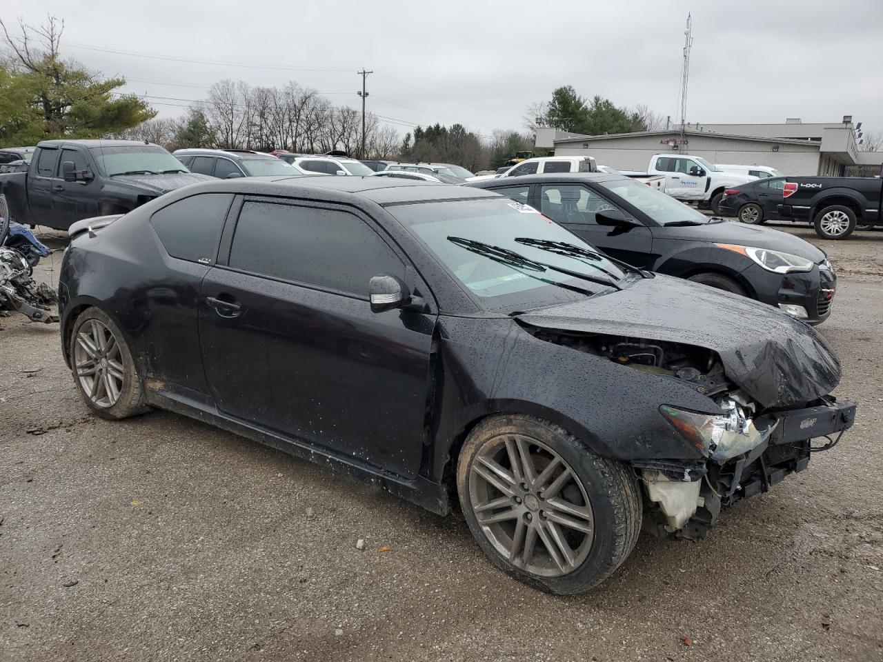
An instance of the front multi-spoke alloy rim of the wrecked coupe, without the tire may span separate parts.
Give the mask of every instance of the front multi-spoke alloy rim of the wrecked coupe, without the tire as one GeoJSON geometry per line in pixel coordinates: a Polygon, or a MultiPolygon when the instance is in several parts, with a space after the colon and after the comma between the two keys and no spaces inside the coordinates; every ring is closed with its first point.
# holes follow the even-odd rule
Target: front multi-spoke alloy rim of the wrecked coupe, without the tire
{"type": "Polygon", "coordinates": [[[469,499],[496,551],[534,575],[566,575],[592,548],[594,517],[584,485],[561,455],[532,438],[488,440],[472,460],[469,499]]]}

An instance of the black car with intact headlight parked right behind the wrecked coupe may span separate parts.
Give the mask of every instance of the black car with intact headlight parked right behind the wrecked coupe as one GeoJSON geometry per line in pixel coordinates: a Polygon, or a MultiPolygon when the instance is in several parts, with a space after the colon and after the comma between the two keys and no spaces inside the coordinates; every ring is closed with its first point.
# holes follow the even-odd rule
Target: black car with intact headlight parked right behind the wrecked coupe
{"type": "Polygon", "coordinates": [[[785,232],[709,218],[629,177],[535,175],[464,185],[540,209],[636,267],[757,299],[811,324],[831,313],[836,277],[819,248],[785,232]]]}

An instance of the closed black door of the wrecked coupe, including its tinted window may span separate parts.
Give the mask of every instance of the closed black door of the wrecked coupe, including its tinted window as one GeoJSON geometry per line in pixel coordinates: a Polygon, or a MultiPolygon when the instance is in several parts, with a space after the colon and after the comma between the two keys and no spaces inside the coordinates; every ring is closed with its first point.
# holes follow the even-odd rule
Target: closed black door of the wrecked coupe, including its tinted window
{"type": "Polygon", "coordinates": [[[366,217],[245,198],[229,258],[202,286],[203,365],[218,408],[416,476],[435,315],[371,312],[368,282],[380,274],[428,294],[366,217]]]}

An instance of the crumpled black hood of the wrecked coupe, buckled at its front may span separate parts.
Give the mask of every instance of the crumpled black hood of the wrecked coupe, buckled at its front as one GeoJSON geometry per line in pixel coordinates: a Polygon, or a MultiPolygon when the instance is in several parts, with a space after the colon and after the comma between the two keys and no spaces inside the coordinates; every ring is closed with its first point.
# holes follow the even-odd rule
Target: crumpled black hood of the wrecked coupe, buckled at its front
{"type": "Polygon", "coordinates": [[[528,312],[518,320],[713,350],[728,378],[763,407],[802,405],[830,393],[841,376],[834,351],[803,322],[751,299],[670,276],[528,312]]]}

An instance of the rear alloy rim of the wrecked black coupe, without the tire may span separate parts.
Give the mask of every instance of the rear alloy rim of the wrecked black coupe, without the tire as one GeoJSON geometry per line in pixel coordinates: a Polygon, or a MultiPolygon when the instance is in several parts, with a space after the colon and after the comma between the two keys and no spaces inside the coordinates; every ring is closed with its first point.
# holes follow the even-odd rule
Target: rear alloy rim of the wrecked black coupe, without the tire
{"type": "Polygon", "coordinates": [[[77,332],[73,350],[79,385],[96,406],[113,407],[123,391],[123,357],[117,338],[100,320],[88,320],[77,332]]]}

